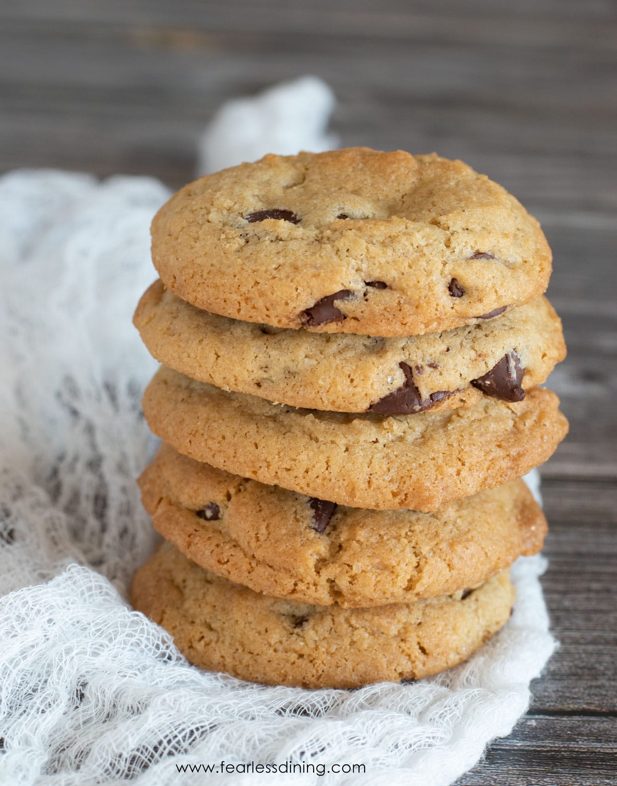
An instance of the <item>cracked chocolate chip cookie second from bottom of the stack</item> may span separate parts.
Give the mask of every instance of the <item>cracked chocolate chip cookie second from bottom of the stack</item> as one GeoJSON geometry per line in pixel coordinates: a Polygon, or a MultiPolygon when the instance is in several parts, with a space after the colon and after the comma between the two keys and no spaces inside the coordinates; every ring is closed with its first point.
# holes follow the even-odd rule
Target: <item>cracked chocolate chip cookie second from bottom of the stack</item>
{"type": "Polygon", "coordinates": [[[230,475],[163,444],[139,479],[154,527],[201,567],[266,595],[347,607],[477,586],[542,548],[522,480],[435,513],[330,505],[230,475]]]}

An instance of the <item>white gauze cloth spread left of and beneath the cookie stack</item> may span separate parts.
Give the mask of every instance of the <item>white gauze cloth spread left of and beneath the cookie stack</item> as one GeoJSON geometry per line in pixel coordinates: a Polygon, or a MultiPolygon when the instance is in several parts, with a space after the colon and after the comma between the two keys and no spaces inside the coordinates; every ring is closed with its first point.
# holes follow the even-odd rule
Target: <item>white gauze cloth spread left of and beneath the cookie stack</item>
{"type": "Polygon", "coordinates": [[[156,542],[135,483],[155,363],[130,318],[167,196],[148,178],[0,178],[0,784],[450,784],[510,732],[556,646],[542,557],[516,563],[512,619],[467,663],[354,691],[197,670],[127,605],[156,542]],[[326,774],[178,772],[221,761],[326,774]]]}

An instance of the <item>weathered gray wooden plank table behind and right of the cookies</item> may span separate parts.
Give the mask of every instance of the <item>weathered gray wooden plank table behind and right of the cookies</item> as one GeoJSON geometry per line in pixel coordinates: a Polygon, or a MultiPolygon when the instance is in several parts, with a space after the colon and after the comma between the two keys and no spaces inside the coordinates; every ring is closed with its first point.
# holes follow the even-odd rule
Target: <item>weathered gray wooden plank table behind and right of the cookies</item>
{"type": "Polygon", "coordinates": [[[559,652],[459,784],[617,780],[615,164],[610,0],[3,0],[0,170],[193,176],[224,99],[314,73],[342,145],[460,157],[542,221],[571,432],[542,469],[559,652]]]}

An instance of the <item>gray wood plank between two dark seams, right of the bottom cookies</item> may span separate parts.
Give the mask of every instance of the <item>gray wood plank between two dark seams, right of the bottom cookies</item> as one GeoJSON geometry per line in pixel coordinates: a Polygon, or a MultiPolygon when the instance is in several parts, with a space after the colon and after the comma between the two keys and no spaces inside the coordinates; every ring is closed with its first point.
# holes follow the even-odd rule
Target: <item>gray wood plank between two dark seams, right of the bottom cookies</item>
{"type": "Polygon", "coordinates": [[[549,568],[542,586],[560,648],[534,683],[532,710],[617,714],[617,489],[549,479],[543,494],[549,568]]]}

